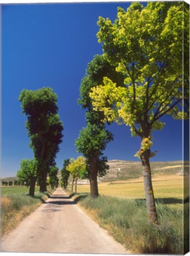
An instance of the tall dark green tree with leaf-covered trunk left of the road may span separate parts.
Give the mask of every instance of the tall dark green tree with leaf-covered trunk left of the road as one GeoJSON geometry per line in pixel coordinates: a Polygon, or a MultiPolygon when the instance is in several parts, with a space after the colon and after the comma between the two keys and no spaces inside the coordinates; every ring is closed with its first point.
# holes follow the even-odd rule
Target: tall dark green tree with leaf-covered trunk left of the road
{"type": "Polygon", "coordinates": [[[38,161],[37,177],[40,191],[47,191],[48,170],[55,165],[55,156],[62,142],[63,123],[57,107],[57,94],[53,89],[35,91],[23,89],[19,95],[22,113],[27,116],[26,127],[30,136],[30,147],[38,161]]]}

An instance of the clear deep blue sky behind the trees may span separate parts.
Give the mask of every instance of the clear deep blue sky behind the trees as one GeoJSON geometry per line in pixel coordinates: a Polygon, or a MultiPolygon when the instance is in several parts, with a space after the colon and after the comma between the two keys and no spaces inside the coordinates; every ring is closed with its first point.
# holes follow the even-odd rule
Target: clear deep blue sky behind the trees
{"type": "MultiPolygon", "coordinates": [[[[77,158],[74,142],[83,126],[85,112],[77,105],[80,82],[87,63],[101,54],[97,42],[99,16],[116,18],[125,3],[26,4],[2,6],[2,177],[15,175],[23,158],[33,157],[18,101],[23,88],[51,87],[58,94],[64,138],[57,166],[65,158],[77,158]]],[[[182,159],[182,121],[165,117],[166,126],[154,132],[152,161],[182,159]]],[[[108,159],[134,160],[140,139],[129,128],[112,124],[114,141],[105,151],[108,159]]]]}

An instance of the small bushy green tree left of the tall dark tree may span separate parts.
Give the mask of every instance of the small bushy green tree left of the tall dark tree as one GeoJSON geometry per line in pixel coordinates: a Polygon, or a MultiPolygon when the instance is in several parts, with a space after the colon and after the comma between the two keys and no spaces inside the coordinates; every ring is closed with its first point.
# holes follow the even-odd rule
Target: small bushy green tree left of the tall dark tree
{"type": "Polygon", "coordinates": [[[22,159],[20,169],[17,172],[19,178],[18,183],[26,183],[30,181],[30,196],[34,197],[35,183],[37,180],[37,160],[36,159],[22,159]]]}

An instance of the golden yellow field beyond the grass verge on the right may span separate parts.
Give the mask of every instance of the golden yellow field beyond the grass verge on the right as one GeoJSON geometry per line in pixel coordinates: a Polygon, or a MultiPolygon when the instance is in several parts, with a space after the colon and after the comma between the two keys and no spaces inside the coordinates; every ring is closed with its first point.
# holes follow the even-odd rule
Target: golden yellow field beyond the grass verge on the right
{"type": "MultiPolygon", "coordinates": [[[[188,178],[186,176],[186,178],[188,178]]],[[[182,175],[154,175],[152,178],[155,198],[162,201],[168,200],[173,203],[181,203],[183,198],[183,176],[182,175]]],[[[90,186],[78,185],[78,193],[89,193],[90,186]]],[[[99,183],[99,193],[106,196],[116,196],[126,199],[144,199],[143,179],[112,181],[110,183],[99,183]]]]}

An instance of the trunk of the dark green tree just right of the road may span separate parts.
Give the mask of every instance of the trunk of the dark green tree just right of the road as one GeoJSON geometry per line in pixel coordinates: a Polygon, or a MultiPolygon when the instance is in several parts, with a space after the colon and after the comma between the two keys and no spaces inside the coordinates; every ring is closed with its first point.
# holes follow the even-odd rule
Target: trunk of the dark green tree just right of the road
{"type": "Polygon", "coordinates": [[[98,156],[94,156],[91,159],[91,165],[90,165],[90,196],[91,197],[98,197],[99,196],[99,188],[97,184],[97,173],[98,173],[98,163],[99,158],[98,156]]]}

